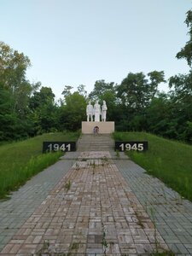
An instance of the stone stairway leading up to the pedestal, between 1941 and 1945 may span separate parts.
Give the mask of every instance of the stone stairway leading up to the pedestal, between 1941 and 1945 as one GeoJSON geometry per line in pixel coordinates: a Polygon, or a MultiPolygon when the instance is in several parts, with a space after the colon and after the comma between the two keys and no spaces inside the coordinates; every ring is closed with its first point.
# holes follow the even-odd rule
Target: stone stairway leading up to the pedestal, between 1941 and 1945
{"type": "Polygon", "coordinates": [[[79,152],[83,151],[112,151],[114,142],[111,134],[82,134],[79,137],[79,152]]]}

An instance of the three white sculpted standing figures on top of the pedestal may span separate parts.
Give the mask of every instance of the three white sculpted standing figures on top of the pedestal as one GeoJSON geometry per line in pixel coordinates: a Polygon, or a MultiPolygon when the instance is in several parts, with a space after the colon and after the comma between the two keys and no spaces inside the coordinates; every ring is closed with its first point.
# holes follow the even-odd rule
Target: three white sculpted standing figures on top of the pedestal
{"type": "Polygon", "coordinates": [[[107,110],[108,110],[108,107],[107,107],[105,101],[102,102],[102,108],[101,108],[98,101],[96,101],[94,107],[89,102],[89,104],[87,105],[87,108],[86,108],[87,121],[92,122],[93,121],[93,116],[94,116],[95,117],[94,121],[95,122],[100,122],[100,116],[102,116],[102,121],[105,122],[106,121],[107,110]]]}

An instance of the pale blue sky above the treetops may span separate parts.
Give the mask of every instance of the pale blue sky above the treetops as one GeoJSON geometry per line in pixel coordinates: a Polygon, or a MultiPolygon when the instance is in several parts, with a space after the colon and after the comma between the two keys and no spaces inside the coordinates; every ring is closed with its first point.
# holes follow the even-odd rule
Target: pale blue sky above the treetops
{"type": "MultiPolygon", "coordinates": [[[[189,40],[190,0],[0,0],[0,41],[32,62],[31,82],[49,86],[96,80],[120,83],[128,73],[188,73],[175,55],[189,40]]],[[[161,86],[160,90],[166,90],[161,86]]]]}

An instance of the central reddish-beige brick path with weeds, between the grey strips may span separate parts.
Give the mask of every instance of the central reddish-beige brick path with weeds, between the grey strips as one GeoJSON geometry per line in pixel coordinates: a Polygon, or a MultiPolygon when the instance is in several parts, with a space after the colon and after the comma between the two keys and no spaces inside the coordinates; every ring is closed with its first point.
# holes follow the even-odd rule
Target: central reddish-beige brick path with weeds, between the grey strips
{"type": "Polygon", "coordinates": [[[1,255],[148,255],[166,243],[108,152],[84,152],[1,255]],[[67,255],[67,254],[66,254],[67,255]]]}

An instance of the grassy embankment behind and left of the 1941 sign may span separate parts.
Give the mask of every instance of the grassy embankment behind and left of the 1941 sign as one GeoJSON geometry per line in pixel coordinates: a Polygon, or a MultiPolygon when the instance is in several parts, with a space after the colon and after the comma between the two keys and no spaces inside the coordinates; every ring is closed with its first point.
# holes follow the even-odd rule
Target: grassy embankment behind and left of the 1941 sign
{"type": "Polygon", "coordinates": [[[42,154],[44,141],[77,141],[78,137],[79,132],[47,133],[0,146],[0,198],[59,159],[61,152],[42,154]]]}

